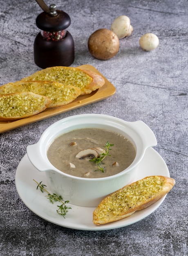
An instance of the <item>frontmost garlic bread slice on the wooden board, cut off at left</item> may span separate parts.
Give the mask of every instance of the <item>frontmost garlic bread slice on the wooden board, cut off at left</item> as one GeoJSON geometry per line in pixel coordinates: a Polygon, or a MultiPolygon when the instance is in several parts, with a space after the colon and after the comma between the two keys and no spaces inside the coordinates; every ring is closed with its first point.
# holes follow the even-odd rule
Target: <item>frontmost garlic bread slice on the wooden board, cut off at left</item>
{"type": "Polygon", "coordinates": [[[32,92],[0,95],[0,121],[16,121],[36,115],[49,106],[51,100],[32,92]]]}

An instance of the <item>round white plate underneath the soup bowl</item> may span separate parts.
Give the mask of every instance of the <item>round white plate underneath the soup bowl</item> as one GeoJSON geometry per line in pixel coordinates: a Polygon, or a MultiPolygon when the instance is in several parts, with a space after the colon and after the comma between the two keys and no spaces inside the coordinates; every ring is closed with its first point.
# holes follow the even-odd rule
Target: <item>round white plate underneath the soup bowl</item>
{"type": "MultiPolygon", "coordinates": [[[[153,148],[148,148],[146,150],[139,165],[138,175],[135,177],[135,181],[150,175],[170,176],[168,167],[163,158],[153,148]]],[[[92,222],[92,213],[95,207],[80,207],[68,204],[67,206],[72,209],[69,209],[67,215],[63,218],[63,216],[58,215],[56,212],[59,203],[52,204],[45,197],[45,195],[47,195],[46,193],[42,193],[40,189],[36,189],[37,184],[33,179],[37,182],[42,181],[43,184],[46,184],[45,173],[38,171],[31,164],[26,154],[18,165],[15,177],[16,189],[21,200],[40,218],[70,229],[98,231],[125,227],[149,216],[161,205],[166,197],[164,196],[146,209],[135,212],[128,218],[107,223],[105,225],[94,225],[92,222]]],[[[49,192],[51,193],[50,190],[49,192]]]]}

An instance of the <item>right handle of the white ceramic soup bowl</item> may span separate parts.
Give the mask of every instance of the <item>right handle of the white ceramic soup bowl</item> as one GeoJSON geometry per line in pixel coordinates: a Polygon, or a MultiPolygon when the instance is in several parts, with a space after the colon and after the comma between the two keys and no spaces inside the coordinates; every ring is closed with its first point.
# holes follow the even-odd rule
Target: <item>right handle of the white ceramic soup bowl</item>
{"type": "Polygon", "coordinates": [[[136,130],[139,132],[139,135],[143,139],[143,145],[145,148],[153,147],[157,145],[157,139],[150,129],[150,127],[145,124],[143,121],[135,121],[130,122],[130,126],[133,128],[136,128],[136,130]]]}

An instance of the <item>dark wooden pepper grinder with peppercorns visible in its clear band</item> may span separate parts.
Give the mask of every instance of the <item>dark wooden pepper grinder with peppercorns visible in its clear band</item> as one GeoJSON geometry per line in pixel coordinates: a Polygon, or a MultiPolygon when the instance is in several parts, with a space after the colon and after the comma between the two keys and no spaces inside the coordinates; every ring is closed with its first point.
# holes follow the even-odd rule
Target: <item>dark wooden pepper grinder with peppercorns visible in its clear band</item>
{"type": "Polygon", "coordinates": [[[49,8],[43,0],[36,0],[43,13],[36,18],[40,33],[34,41],[34,61],[38,67],[70,66],[74,62],[74,40],[67,31],[71,20],[64,11],[49,8]]]}

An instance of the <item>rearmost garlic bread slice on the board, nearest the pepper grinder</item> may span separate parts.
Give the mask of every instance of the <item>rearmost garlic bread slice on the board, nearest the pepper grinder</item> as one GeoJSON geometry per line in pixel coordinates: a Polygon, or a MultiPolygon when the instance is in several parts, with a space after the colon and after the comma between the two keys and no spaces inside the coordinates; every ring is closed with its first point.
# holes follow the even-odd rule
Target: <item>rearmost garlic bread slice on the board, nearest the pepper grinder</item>
{"type": "Polygon", "coordinates": [[[99,74],[77,67],[47,67],[23,78],[21,81],[54,81],[63,85],[74,85],[81,90],[81,95],[90,94],[104,85],[105,80],[99,74]]]}

